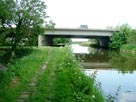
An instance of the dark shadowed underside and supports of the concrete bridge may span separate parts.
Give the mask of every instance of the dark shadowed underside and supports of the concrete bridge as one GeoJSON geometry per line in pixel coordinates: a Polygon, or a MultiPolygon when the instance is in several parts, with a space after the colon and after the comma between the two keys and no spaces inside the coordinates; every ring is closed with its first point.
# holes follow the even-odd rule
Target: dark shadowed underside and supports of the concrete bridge
{"type": "Polygon", "coordinates": [[[87,38],[87,39],[96,39],[99,42],[99,46],[108,47],[109,36],[85,36],[85,35],[46,35],[39,36],[38,46],[52,46],[54,38],[87,38]]]}

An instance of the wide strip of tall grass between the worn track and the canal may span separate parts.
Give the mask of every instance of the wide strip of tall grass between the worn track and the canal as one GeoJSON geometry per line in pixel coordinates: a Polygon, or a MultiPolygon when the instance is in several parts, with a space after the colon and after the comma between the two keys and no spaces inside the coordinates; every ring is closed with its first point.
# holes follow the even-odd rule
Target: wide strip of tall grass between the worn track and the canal
{"type": "Polygon", "coordinates": [[[50,57],[52,60],[37,83],[37,91],[27,101],[104,102],[95,78],[85,75],[69,48],[54,48],[50,57]]]}

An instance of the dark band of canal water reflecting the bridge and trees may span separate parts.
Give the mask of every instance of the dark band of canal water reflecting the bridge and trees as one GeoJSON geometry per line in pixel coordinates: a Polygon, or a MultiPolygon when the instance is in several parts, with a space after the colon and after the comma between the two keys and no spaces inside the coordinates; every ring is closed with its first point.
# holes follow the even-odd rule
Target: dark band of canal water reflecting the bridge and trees
{"type": "Polygon", "coordinates": [[[119,73],[133,73],[136,70],[136,55],[80,47],[80,45],[72,45],[73,53],[79,60],[84,60],[81,64],[86,69],[112,68],[118,70],[119,73]]]}

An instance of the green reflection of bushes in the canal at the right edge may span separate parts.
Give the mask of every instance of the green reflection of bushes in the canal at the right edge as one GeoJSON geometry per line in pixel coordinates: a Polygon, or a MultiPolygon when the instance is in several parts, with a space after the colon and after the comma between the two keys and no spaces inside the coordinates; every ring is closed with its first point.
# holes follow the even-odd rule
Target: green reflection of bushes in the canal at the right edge
{"type": "Polygon", "coordinates": [[[133,73],[136,70],[136,57],[132,54],[109,53],[109,63],[121,73],[133,73]],[[133,56],[133,57],[131,57],[133,56]]]}

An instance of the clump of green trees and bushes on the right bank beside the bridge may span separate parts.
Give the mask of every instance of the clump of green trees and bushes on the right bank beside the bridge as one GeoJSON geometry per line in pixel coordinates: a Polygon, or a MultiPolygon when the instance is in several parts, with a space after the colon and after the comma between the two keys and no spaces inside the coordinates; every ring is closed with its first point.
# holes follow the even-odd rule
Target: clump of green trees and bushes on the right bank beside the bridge
{"type": "Polygon", "coordinates": [[[123,24],[114,28],[118,32],[110,37],[109,48],[119,50],[123,45],[136,46],[136,29],[128,24],[123,24]]]}

